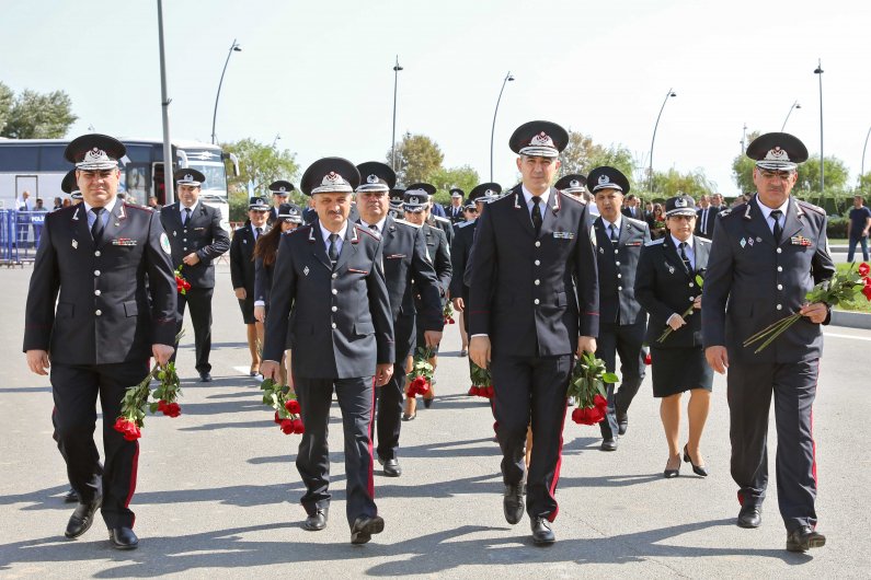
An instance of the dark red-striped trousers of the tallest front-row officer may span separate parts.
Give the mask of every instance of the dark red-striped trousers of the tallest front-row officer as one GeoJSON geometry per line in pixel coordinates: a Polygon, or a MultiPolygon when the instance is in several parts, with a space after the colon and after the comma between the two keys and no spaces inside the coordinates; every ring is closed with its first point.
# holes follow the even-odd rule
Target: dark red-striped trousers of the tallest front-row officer
{"type": "Polygon", "coordinates": [[[526,478],[526,511],[530,518],[547,518],[551,522],[559,511],[554,494],[560,478],[572,359],[572,355],[494,356],[490,363],[503,483],[512,486],[523,483],[524,448],[531,421],[535,443],[526,478]]]}

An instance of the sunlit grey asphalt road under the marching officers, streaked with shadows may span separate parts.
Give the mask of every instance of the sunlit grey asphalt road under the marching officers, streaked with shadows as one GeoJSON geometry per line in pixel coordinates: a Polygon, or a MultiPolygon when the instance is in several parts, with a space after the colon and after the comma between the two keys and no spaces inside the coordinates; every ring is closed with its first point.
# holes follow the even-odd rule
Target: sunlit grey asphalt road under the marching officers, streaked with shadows
{"type": "MultiPolygon", "coordinates": [[[[294,465],[299,436],[285,436],[247,375],[244,328],[229,271],[215,294],[213,374],[195,381],[193,333],[179,366],[183,415],[147,421],[131,507],[139,549],[108,546],[102,522],[83,537],[62,536],[72,507],[62,460],[51,440],[51,393],[21,353],[30,267],[0,270],[5,305],[0,335],[0,577],[185,578],[502,577],[571,578],[868,578],[871,575],[871,333],[826,329],[814,413],[820,530],[828,544],[806,555],[784,550],[786,531],[771,486],[763,526],[734,525],[738,506],[729,475],[725,381],[714,380],[702,442],[711,476],[677,479],[662,471],[666,445],[650,379],[630,411],[616,453],[598,451],[598,428],[568,421],[558,491],[558,542],[536,547],[528,519],[502,515],[500,453],[486,402],[468,397],[467,361],[449,326],[436,372],[436,402],[403,424],[404,474],[376,471],[387,526],[352,546],[344,519],[341,424],[331,432],[334,499],[326,530],[305,532],[302,487],[294,465]]],[[[188,323],[190,324],[190,323],[188,323]]],[[[188,328],[190,330],[190,328],[188,328]]],[[[686,424],[683,432],[686,433],[686,424]]],[[[98,437],[100,429],[98,429],[98,437]]],[[[773,444],[770,430],[771,474],[773,444]]]]}

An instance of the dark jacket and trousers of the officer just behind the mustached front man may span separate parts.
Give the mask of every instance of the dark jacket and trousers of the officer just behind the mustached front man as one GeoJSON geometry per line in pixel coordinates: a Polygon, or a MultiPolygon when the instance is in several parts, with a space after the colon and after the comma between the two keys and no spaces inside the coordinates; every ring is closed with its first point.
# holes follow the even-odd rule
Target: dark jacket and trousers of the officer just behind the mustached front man
{"type": "Polygon", "coordinates": [[[423,229],[388,217],[380,233],[396,339],[393,376],[378,390],[377,452],[378,457],[387,461],[397,459],[399,449],[402,425],[400,417],[405,393],[405,359],[413,353],[415,346],[415,318],[421,321],[424,330],[437,332],[444,328],[445,320],[442,315],[443,291],[433,263],[426,255],[423,229]],[[421,295],[423,304],[420,313],[414,305],[415,293],[421,295]]]}

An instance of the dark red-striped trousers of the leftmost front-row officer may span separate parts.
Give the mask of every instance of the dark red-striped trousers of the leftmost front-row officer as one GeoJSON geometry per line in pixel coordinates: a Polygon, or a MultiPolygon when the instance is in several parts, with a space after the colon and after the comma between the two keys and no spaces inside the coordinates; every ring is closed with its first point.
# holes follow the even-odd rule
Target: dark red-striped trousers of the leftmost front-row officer
{"type": "Polygon", "coordinates": [[[127,387],[148,374],[148,361],[115,364],[51,364],[58,449],[67,462],[70,485],[82,503],[102,494],[103,520],[108,527],[133,527],[128,508],[136,490],[139,443],[125,441],[114,429],[127,387]],[[94,443],[96,398],[103,409],[103,453],[94,443]]]}

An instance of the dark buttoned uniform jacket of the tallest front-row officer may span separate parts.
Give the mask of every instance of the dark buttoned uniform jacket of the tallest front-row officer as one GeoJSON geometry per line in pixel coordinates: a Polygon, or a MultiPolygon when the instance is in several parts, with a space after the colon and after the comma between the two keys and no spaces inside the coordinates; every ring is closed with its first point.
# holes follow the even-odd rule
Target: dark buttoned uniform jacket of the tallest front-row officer
{"type": "Polygon", "coordinates": [[[541,213],[536,237],[517,186],[478,218],[469,326],[471,335],[490,336],[494,356],[570,355],[578,334],[598,336],[599,287],[587,207],[551,187],[541,213]]]}

